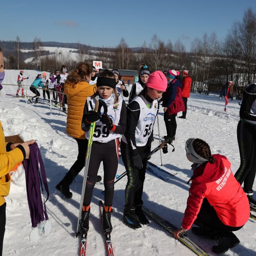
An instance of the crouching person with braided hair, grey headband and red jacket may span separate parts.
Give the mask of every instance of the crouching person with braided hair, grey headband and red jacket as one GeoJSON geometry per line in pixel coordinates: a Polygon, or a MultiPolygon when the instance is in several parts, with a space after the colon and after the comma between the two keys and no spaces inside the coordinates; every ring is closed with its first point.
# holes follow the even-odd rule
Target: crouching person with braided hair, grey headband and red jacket
{"type": "Polygon", "coordinates": [[[186,156],[194,174],[181,228],[174,237],[190,229],[198,237],[218,239],[212,251],[218,254],[237,246],[240,241],[233,234],[243,227],[250,216],[249,201],[234,178],[230,162],[225,156],[211,155],[209,145],[201,139],[186,141],[186,156]]]}

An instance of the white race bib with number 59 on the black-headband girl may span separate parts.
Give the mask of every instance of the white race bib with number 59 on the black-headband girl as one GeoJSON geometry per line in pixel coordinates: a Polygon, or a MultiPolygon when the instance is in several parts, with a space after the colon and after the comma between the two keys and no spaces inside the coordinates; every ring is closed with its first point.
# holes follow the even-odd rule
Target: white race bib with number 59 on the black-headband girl
{"type": "MultiPolygon", "coordinates": [[[[92,106],[94,109],[95,106],[95,99],[91,99],[91,97],[87,98],[87,105],[88,110],[93,110],[90,106],[89,102],[92,102],[92,106]]],[[[113,124],[118,125],[120,120],[120,114],[121,114],[121,108],[122,108],[122,99],[118,99],[117,103],[112,103],[108,106],[108,115],[111,118],[113,124]]],[[[103,114],[103,107],[100,110],[100,113],[103,114]]],[[[89,130],[90,131],[90,130],[89,130]]],[[[89,139],[89,131],[86,132],[86,138],[89,139]]],[[[105,124],[103,124],[100,120],[95,122],[95,130],[93,135],[93,141],[99,141],[102,143],[109,142],[113,139],[122,137],[122,134],[117,134],[111,132],[105,124]]]]}

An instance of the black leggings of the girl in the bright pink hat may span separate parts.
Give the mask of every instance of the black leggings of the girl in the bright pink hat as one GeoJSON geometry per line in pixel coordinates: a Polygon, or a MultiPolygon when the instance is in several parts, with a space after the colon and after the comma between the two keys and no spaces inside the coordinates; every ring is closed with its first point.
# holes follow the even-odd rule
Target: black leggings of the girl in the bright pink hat
{"type": "Polygon", "coordinates": [[[148,147],[148,145],[137,147],[143,164],[142,169],[133,167],[132,149],[128,144],[121,141],[120,149],[128,179],[125,187],[125,205],[132,208],[143,204],[142,193],[146,173],[147,154],[150,152],[150,147],[148,147]]]}

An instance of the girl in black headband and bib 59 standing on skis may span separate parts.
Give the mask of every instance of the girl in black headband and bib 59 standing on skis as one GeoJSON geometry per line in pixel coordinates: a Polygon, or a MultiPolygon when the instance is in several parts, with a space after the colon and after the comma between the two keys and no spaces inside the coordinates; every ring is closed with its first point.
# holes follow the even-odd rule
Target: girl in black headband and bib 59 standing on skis
{"type": "Polygon", "coordinates": [[[89,139],[91,122],[96,122],[91,147],[91,158],[89,162],[86,188],[83,197],[83,207],[79,228],[82,233],[89,230],[90,204],[93,188],[96,183],[100,163],[103,162],[104,172],[104,209],[103,209],[103,230],[105,233],[112,231],[111,212],[114,197],[114,180],[118,167],[118,145],[119,138],[126,130],[126,105],[120,99],[116,90],[116,79],[113,72],[104,70],[97,78],[99,95],[105,103],[105,109],[94,111],[95,97],[88,97],[84,105],[82,129],[89,139]],[[103,114],[102,114],[103,113],[103,114]]]}

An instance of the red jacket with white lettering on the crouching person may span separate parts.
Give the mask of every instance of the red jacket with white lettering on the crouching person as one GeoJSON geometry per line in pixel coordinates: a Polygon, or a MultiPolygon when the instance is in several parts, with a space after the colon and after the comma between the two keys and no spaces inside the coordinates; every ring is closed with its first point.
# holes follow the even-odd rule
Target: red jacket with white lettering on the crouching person
{"type": "Polygon", "coordinates": [[[225,156],[212,155],[216,161],[201,164],[194,170],[182,228],[189,229],[196,220],[203,199],[212,205],[227,226],[240,227],[249,219],[250,207],[244,190],[234,178],[225,156]]]}

